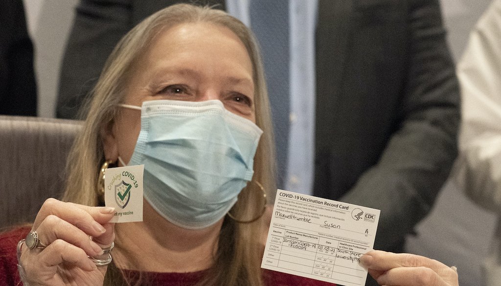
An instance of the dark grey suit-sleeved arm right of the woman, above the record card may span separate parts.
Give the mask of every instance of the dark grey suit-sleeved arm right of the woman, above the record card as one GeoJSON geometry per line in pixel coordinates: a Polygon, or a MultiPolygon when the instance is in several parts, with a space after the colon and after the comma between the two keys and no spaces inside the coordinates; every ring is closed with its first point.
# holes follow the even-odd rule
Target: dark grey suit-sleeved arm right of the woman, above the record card
{"type": "MultiPolygon", "coordinates": [[[[374,248],[403,245],[431,209],[457,155],[459,89],[439,3],[408,2],[407,80],[397,130],[341,201],[381,210],[374,248]]],[[[388,63],[389,64],[389,63],[388,63]]],[[[370,140],[370,138],[367,138],[370,140]]]]}

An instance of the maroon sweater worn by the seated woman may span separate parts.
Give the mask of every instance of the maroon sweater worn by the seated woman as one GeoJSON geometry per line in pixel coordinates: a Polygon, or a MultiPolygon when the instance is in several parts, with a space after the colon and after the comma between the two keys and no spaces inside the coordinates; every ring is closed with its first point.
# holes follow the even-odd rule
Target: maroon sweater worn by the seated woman
{"type": "MultiPolygon", "coordinates": [[[[16,245],[29,232],[30,228],[23,227],[0,234],[0,286],[22,285],[17,267],[16,245]]],[[[133,270],[125,270],[125,272],[129,277],[138,276],[139,274],[138,271],[133,270]]],[[[147,272],[146,274],[149,277],[149,285],[192,286],[202,278],[203,273],[204,271],[188,273],[147,272]]],[[[267,286],[335,286],[335,284],[329,282],[267,269],[263,269],[263,279],[267,286]]]]}

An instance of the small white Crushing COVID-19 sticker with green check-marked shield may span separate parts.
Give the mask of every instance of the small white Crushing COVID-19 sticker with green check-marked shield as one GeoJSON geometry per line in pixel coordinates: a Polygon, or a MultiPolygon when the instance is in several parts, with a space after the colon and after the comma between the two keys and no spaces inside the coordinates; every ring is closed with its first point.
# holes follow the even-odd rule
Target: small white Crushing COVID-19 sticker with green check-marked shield
{"type": "Polygon", "coordinates": [[[106,169],[104,201],[115,208],[110,222],[143,221],[144,165],[106,169]]]}

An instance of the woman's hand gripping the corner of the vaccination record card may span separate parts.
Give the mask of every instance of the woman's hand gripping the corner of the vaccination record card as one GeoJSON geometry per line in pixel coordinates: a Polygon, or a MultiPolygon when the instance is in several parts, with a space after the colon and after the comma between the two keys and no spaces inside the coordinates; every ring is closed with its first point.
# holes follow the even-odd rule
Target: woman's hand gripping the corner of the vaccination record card
{"type": "Polygon", "coordinates": [[[455,267],[424,256],[372,250],[360,257],[360,263],[380,285],[459,285],[455,267]]]}

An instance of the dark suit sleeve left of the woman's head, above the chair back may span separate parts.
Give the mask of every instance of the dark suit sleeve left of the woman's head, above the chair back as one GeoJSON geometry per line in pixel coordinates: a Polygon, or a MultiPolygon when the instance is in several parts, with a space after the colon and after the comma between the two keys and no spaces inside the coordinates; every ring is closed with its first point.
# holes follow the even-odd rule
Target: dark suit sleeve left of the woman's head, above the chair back
{"type": "Polygon", "coordinates": [[[56,115],[75,119],[104,63],[133,27],[131,0],[81,0],[61,65],[56,115]]]}

